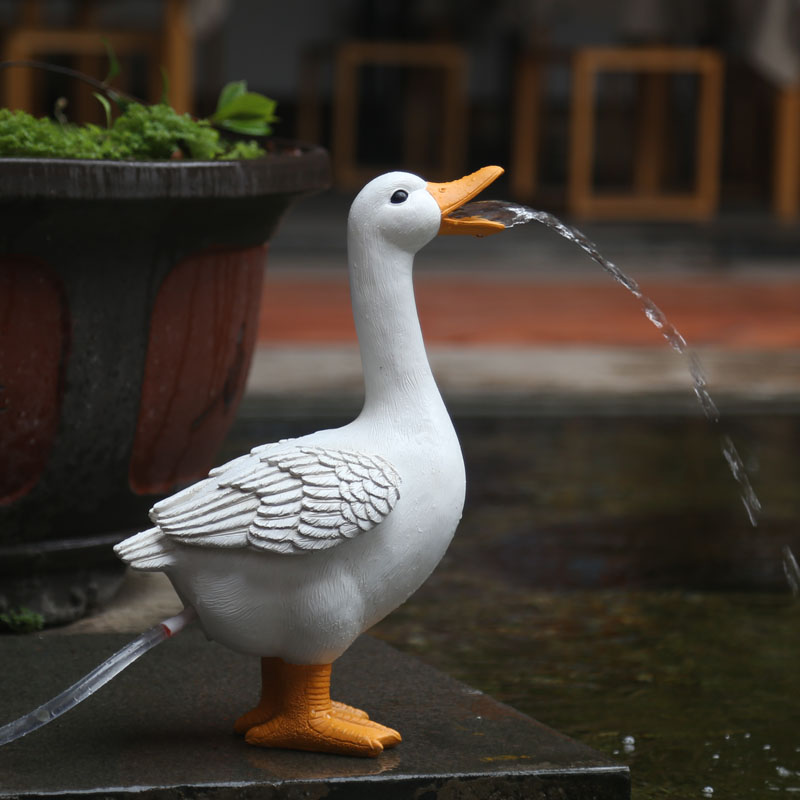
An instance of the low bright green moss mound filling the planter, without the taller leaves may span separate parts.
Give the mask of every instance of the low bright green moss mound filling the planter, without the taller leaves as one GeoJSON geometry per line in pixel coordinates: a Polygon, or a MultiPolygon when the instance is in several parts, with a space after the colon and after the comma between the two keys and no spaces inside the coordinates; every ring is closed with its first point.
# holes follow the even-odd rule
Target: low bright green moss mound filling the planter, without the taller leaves
{"type": "Polygon", "coordinates": [[[0,157],[111,160],[258,158],[254,141],[228,142],[208,120],[167,105],[129,103],[108,128],[36,119],[0,109],[0,157]]]}

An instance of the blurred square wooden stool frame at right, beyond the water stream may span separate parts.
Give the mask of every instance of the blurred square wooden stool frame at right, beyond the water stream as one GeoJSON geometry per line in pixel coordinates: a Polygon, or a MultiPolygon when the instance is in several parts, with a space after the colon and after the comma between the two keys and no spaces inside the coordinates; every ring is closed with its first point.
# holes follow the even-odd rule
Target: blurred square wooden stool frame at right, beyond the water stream
{"type": "Polygon", "coordinates": [[[572,61],[567,205],[578,217],[706,220],[719,200],[724,62],[703,48],[587,47],[572,61]],[[595,85],[601,72],[640,72],[647,85],[629,194],[596,193],[592,186],[595,85]],[[666,145],[666,74],[688,72],[700,80],[697,101],[696,177],[693,191],[659,191],[666,145]]]}

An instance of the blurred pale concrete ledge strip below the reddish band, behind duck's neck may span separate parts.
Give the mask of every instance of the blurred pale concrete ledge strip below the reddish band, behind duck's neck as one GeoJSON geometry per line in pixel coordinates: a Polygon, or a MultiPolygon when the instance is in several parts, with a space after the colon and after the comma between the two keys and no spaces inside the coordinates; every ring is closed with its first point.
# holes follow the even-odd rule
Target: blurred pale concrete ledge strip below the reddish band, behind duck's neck
{"type": "MultiPolygon", "coordinates": [[[[800,397],[800,353],[795,350],[696,352],[714,396],[800,397]]],[[[433,346],[428,355],[440,389],[451,396],[549,392],[693,397],[688,363],[668,347],[433,346]]],[[[362,391],[361,360],[354,345],[262,346],[247,384],[251,395],[362,391]]]]}

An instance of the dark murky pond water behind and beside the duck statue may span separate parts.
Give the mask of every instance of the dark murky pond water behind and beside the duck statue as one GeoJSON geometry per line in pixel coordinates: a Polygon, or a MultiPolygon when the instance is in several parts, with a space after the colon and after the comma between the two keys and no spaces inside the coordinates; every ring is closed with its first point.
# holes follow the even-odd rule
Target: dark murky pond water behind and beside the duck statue
{"type": "MultiPolygon", "coordinates": [[[[726,417],[753,529],[696,413],[551,409],[456,409],[461,527],[373,633],[628,763],[634,798],[800,797],[800,418],[726,417]]],[[[347,417],[280,418],[245,408],[223,455],[347,417]]]]}

